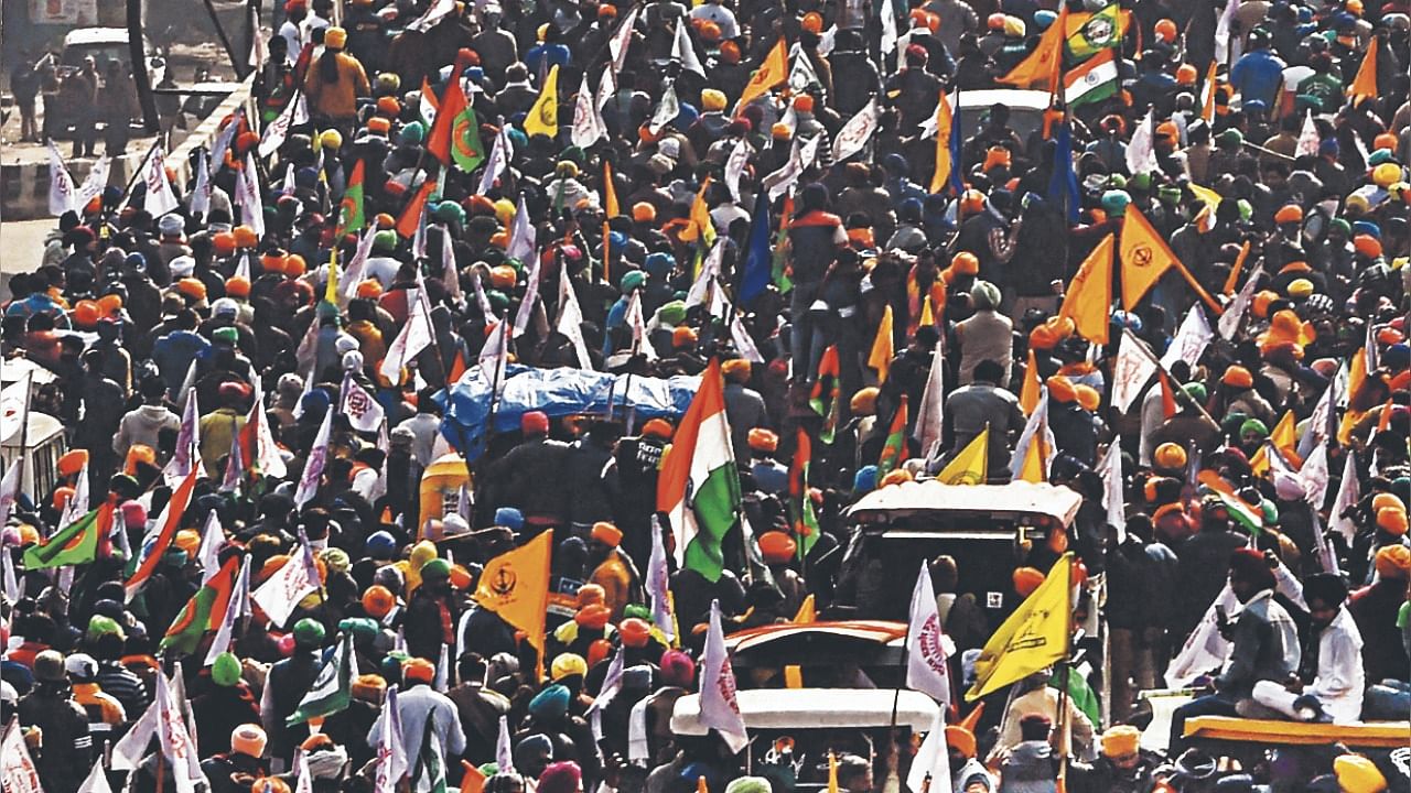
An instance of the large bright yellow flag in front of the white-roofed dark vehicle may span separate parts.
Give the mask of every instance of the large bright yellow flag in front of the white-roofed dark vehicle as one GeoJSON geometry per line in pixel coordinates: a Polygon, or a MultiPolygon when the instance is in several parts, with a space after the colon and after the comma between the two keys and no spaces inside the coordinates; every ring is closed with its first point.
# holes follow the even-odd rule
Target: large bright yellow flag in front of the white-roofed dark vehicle
{"type": "Polygon", "coordinates": [[[967,700],[978,700],[1068,655],[1071,586],[1072,555],[1065,553],[1044,583],[985,642],[975,660],[975,686],[965,694],[967,700]]]}

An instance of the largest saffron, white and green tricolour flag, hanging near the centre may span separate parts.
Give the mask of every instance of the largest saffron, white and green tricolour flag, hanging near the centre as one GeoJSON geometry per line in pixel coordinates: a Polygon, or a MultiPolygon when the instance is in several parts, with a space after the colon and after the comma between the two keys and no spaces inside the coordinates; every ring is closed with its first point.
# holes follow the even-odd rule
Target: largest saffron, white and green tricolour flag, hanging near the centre
{"type": "Polygon", "coordinates": [[[676,563],[715,583],[724,569],[721,539],[739,515],[739,474],[725,420],[720,361],[701,375],[656,485],[656,508],[672,521],[676,563]]]}

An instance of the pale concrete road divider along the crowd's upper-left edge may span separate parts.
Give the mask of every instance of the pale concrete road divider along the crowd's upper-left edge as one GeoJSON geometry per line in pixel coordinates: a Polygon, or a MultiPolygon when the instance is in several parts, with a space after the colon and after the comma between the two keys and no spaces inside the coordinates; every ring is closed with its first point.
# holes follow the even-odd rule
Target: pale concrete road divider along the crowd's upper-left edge
{"type": "MultiPolygon", "coordinates": [[[[190,152],[196,147],[210,147],[220,120],[250,100],[254,75],[236,85],[236,90],[202,120],[172,151],[166,154],[166,167],[176,172],[178,190],[185,190],[190,181],[190,152]]],[[[62,144],[66,145],[66,144],[62,144]]],[[[151,138],[134,140],[123,157],[113,161],[107,183],[127,186],[133,172],[143,164],[151,138]]],[[[62,148],[61,148],[62,151],[62,148]]],[[[93,158],[69,159],[69,174],[75,185],[82,185],[93,168],[93,158]]],[[[35,220],[49,216],[49,159],[42,154],[32,162],[0,164],[0,219],[35,220]]]]}

